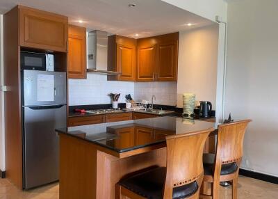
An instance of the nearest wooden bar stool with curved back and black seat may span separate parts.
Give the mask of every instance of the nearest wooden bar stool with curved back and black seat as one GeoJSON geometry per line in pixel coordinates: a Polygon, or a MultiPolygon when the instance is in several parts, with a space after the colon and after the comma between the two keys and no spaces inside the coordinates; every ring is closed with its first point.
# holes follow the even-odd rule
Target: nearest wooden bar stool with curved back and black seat
{"type": "Polygon", "coordinates": [[[167,136],[167,167],[158,167],[120,180],[116,198],[199,198],[203,180],[203,149],[213,129],[167,136]]]}

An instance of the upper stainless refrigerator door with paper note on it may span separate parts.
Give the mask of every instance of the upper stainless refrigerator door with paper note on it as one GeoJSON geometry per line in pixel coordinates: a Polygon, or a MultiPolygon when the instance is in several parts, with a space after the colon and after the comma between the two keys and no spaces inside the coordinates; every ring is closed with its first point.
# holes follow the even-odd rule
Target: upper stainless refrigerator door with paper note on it
{"type": "Polygon", "coordinates": [[[65,72],[24,70],[22,74],[24,106],[66,104],[67,77],[65,72]]]}

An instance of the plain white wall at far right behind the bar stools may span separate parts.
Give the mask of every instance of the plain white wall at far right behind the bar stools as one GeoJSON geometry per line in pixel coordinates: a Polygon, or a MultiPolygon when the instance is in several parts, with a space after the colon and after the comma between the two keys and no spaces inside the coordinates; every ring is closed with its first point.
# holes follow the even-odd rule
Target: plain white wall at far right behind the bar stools
{"type": "Polygon", "coordinates": [[[228,6],[225,115],[253,120],[243,168],[278,176],[278,1],[242,0],[228,6]]]}

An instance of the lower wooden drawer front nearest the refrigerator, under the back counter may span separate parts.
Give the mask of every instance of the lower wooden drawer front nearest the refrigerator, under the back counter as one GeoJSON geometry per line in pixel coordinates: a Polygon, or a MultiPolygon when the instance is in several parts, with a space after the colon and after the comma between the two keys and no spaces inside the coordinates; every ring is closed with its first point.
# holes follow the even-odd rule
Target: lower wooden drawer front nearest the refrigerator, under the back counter
{"type": "Polygon", "coordinates": [[[81,125],[95,125],[99,123],[104,123],[105,115],[98,115],[98,116],[77,116],[77,117],[70,117],[68,119],[68,126],[75,127],[81,125]]]}

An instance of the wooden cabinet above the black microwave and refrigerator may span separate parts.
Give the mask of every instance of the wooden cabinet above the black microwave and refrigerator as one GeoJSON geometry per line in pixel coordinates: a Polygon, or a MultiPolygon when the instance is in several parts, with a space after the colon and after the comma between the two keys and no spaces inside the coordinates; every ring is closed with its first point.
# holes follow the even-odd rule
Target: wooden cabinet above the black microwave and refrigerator
{"type": "Polygon", "coordinates": [[[19,45],[49,51],[67,51],[67,17],[18,6],[19,45]]]}

